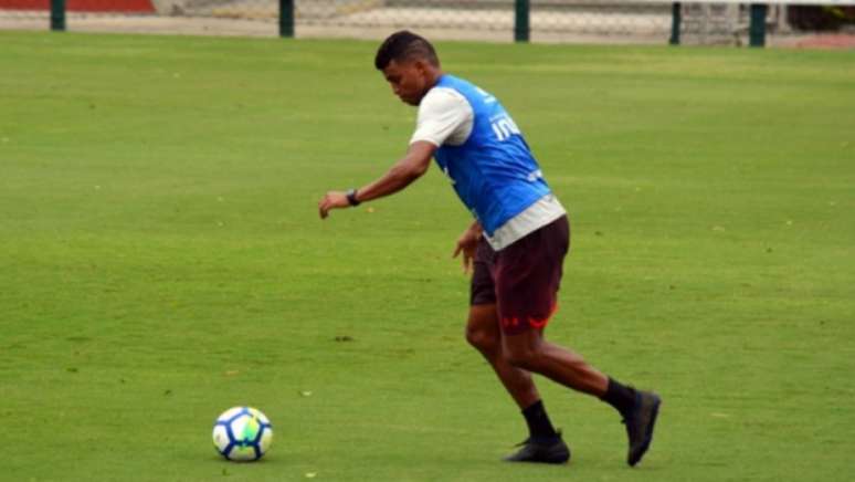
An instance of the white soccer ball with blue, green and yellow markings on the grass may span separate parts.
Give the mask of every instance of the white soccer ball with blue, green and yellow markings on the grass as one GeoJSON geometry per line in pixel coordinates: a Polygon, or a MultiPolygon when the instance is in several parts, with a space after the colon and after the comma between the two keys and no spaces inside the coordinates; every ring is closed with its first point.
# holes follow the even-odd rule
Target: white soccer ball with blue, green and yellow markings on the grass
{"type": "Polygon", "coordinates": [[[273,427],[261,410],[232,407],[214,422],[214,448],[228,460],[252,462],[267,452],[273,441],[273,427]]]}

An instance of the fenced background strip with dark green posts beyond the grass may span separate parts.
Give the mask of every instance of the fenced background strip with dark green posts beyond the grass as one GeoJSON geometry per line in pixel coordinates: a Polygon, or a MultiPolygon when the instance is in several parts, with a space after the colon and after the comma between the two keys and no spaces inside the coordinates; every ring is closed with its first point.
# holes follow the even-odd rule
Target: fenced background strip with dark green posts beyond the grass
{"type": "Polygon", "coordinates": [[[768,45],[855,45],[855,0],[793,1],[0,0],[0,29],[49,29],[53,17],[71,31],[746,45],[753,22],[768,45]]]}

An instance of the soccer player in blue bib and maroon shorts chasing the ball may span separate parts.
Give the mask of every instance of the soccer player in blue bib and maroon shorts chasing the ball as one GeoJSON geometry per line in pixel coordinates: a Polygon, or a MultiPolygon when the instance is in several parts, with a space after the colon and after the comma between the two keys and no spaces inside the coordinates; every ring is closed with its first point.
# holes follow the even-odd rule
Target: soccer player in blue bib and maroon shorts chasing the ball
{"type": "Polygon", "coordinates": [[[386,39],[374,66],[401,101],[419,107],[415,133],[386,175],[359,189],[327,192],[318,202],[320,218],[400,191],[435,158],[475,217],[454,250],[473,272],[466,339],[492,365],[529,429],[521,448],[505,460],[570,460],[531,379],[536,373],[614,407],[626,426],[626,462],[635,465],[653,439],[659,397],[623,385],[545,339],[570,227],[519,127],[495,96],[445,74],[431,43],[409,31],[386,39]]]}

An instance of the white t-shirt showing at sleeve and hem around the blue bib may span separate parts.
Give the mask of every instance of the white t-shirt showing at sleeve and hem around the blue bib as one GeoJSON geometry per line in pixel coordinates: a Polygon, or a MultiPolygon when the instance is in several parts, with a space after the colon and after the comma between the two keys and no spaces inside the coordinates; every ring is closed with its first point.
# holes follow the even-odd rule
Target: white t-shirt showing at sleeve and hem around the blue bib
{"type": "MultiPolygon", "coordinates": [[[[448,87],[433,87],[419,104],[415,133],[410,144],[424,140],[436,147],[461,146],[469,138],[474,122],[475,113],[463,94],[448,87]]],[[[484,237],[498,251],[564,213],[564,208],[550,193],[509,219],[492,237],[486,233],[484,237]]]]}

